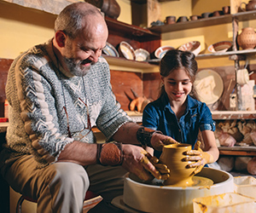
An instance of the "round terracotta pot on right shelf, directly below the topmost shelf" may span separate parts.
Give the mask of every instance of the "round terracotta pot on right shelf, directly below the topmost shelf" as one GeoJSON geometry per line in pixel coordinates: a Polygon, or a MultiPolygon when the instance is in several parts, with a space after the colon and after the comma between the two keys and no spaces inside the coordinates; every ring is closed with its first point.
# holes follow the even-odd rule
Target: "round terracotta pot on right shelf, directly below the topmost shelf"
{"type": "Polygon", "coordinates": [[[253,27],[242,28],[240,35],[237,36],[237,43],[241,49],[254,49],[256,46],[256,33],[253,27]]]}

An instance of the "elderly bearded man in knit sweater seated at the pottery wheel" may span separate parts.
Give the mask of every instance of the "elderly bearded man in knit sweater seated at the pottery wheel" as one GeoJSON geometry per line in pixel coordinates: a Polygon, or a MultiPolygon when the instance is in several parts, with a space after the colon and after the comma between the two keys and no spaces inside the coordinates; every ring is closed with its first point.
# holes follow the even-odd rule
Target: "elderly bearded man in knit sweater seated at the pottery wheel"
{"type": "Polygon", "coordinates": [[[168,173],[138,145],[160,149],[172,138],[132,123],[115,100],[101,57],[107,38],[99,10],[73,3],[55,20],[55,37],[9,69],[1,172],[15,191],[38,200],[38,212],[82,212],[87,190],[103,198],[90,212],[119,211],[110,203],[123,193],[127,171],[143,180],[168,173]],[[96,143],[94,125],[106,143],[96,143]]]}

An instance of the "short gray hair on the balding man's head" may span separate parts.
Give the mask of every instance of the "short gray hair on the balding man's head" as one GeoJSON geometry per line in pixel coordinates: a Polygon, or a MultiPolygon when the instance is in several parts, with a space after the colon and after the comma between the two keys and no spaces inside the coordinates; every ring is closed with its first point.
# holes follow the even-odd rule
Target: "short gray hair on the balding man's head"
{"type": "Polygon", "coordinates": [[[82,30],[84,17],[90,14],[101,14],[101,12],[90,3],[69,4],[56,18],[55,32],[63,31],[68,37],[77,37],[82,30]]]}

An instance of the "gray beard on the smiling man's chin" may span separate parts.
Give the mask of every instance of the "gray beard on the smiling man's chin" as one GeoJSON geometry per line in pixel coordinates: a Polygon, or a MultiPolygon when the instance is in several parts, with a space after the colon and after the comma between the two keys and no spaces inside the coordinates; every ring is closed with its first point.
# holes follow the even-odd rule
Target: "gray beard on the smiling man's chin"
{"type": "MultiPolygon", "coordinates": [[[[82,63],[84,62],[84,60],[79,61],[79,63],[76,64],[76,62],[72,58],[64,57],[64,61],[66,63],[66,66],[67,66],[69,72],[71,72],[74,76],[83,77],[88,72],[90,72],[90,66],[83,66],[82,67],[82,63]]],[[[94,64],[90,60],[89,60],[89,62],[90,62],[90,65],[94,64]]]]}

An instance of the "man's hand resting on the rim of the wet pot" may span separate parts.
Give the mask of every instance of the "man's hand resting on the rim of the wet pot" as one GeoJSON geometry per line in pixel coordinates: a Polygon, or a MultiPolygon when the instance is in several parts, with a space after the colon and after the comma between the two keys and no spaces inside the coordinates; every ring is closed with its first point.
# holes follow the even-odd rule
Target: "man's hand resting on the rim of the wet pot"
{"type": "Polygon", "coordinates": [[[151,138],[151,146],[155,150],[162,151],[163,147],[168,144],[178,143],[172,137],[154,133],[151,138]]]}

